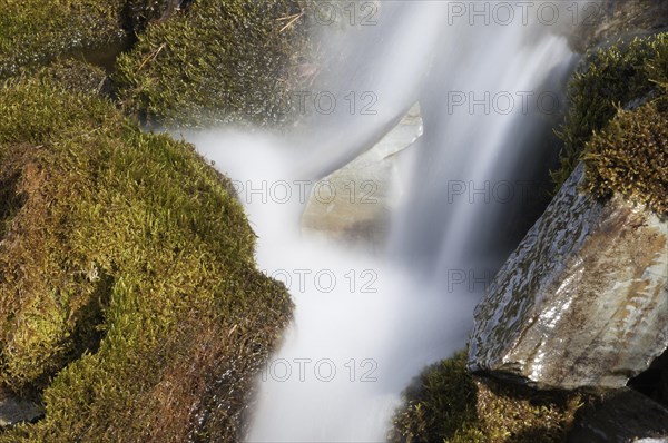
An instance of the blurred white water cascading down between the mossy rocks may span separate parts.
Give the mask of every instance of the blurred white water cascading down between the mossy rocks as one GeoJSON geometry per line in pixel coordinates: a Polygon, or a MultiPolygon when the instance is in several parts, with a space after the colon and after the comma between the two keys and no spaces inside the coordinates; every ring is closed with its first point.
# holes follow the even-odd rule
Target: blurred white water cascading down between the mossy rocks
{"type": "Polygon", "coordinates": [[[509,253],[497,237],[521,201],[499,198],[493,186],[508,191],[530,180],[549,148],[538,129],[548,106],[539,95],[558,91],[571,56],[566,39],[531,13],[524,22],[525,7],[508,2],[513,20],[485,23],[478,14],[471,24],[470,2],[369,4],[379,6],[363,2],[358,11],[375,12],[375,26],[320,37],[330,65],[315,87],[338,98],[332,112],[315,112],[289,137],[187,136],[238,180],[259,237],[257,262],[296,304],[258,382],[248,442],[383,441],[411,378],[464,347],[484,289],[475,278],[509,253]],[[364,92],[375,114],[351,112],[343,98],[364,92]],[[353,159],[415,100],[424,136],[400,165],[411,174],[385,252],[303,237],[306,184],[353,159]],[[473,275],[475,284],[455,287],[453,275],[473,275]]]}

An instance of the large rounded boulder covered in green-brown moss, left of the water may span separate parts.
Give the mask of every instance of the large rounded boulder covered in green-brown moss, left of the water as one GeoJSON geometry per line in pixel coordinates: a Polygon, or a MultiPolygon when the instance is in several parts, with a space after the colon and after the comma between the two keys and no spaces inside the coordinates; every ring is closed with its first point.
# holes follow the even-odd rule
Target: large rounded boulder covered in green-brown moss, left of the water
{"type": "Polygon", "coordinates": [[[47,77],[0,91],[0,442],[234,441],[288,321],[230,184],[47,77]]]}

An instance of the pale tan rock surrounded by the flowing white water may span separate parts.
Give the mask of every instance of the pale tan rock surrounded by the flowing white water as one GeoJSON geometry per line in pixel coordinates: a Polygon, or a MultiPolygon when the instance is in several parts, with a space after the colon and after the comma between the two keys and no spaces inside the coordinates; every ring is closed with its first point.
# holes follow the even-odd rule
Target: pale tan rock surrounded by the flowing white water
{"type": "Polygon", "coordinates": [[[314,186],[302,229],[328,237],[382,244],[395,201],[397,156],[422,136],[420,106],[371,149],[314,186]]]}

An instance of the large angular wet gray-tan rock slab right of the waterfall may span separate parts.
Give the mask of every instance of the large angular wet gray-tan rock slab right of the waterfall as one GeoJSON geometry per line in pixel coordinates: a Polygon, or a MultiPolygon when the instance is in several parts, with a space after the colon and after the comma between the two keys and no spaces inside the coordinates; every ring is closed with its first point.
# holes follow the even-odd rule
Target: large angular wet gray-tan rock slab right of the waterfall
{"type": "Polygon", "coordinates": [[[668,347],[668,224],[580,194],[583,170],[477,307],[471,370],[539,388],[616,388],[668,347]]]}

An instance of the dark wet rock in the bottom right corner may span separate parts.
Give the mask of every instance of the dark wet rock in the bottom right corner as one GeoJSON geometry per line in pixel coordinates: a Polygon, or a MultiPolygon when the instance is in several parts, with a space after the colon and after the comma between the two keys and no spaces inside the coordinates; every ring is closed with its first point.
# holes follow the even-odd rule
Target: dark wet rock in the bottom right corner
{"type": "Polygon", "coordinates": [[[629,388],[578,411],[569,443],[668,442],[668,410],[629,388]]]}

